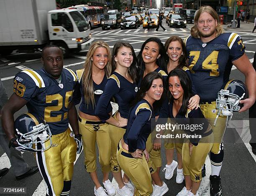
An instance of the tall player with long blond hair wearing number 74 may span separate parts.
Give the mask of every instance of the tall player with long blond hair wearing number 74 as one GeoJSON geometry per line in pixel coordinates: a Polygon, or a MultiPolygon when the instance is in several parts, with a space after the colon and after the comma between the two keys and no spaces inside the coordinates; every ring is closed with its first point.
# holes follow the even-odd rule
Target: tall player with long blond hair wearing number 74
{"type": "Polygon", "coordinates": [[[191,35],[184,43],[192,82],[200,96],[200,107],[212,125],[215,138],[210,153],[210,193],[211,196],[220,196],[222,188],[219,174],[224,157],[222,140],[228,118],[220,116],[214,126],[217,116],[215,101],[218,92],[228,82],[231,68],[235,65],[245,75],[249,92],[249,97],[240,101],[243,107],[239,113],[248,110],[255,102],[256,73],[245,54],[241,36],[236,33],[223,33],[218,14],[210,6],[198,10],[191,35]]]}

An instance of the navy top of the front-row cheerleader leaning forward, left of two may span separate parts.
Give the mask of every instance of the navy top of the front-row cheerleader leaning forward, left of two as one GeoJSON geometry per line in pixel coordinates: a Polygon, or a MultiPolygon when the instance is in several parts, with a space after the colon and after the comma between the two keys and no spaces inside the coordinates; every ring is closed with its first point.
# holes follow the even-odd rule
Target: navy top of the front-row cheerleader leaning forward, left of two
{"type": "Polygon", "coordinates": [[[129,146],[129,152],[146,149],[146,141],[151,133],[151,118],[154,118],[152,111],[153,108],[145,99],[139,101],[131,109],[123,135],[124,142],[129,146]]]}

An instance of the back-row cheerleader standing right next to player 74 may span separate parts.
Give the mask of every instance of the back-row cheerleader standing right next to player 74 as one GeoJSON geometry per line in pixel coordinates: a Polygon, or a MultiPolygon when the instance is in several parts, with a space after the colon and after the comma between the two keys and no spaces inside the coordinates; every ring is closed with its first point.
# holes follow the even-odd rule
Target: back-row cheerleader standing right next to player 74
{"type": "MultiPolygon", "coordinates": [[[[168,63],[167,63],[167,72],[170,73],[172,70],[179,68],[186,71],[189,78],[191,78],[190,71],[187,68],[186,60],[187,60],[187,50],[183,40],[178,36],[172,36],[168,38],[164,44],[164,48],[168,55],[168,63]]],[[[194,109],[198,108],[200,97],[197,95],[195,91],[195,87],[192,85],[192,96],[189,99],[188,108],[194,109]]],[[[165,170],[165,178],[167,180],[171,179],[173,176],[174,169],[177,168],[177,176],[176,182],[182,183],[184,180],[183,170],[182,170],[182,143],[172,143],[172,142],[165,142],[165,153],[166,153],[166,167],[165,170]],[[177,151],[177,161],[173,160],[174,156],[174,148],[177,151]]],[[[154,148],[161,148],[161,143],[154,143],[154,148]]],[[[163,171],[164,171],[163,170],[163,171]]]]}

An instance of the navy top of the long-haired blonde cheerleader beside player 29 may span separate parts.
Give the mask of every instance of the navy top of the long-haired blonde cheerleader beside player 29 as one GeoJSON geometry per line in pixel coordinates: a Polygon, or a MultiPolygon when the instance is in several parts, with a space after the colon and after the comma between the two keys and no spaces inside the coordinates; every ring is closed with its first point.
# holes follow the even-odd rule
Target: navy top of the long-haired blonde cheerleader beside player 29
{"type": "MultiPolygon", "coordinates": [[[[82,103],[80,104],[79,106],[79,110],[82,112],[82,113],[86,113],[86,114],[89,114],[91,116],[96,116],[95,114],[95,108],[96,108],[96,105],[100,99],[100,96],[102,95],[103,93],[103,90],[105,88],[105,85],[107,83],[107,76],[104,75],[104,78],[103,80],[101,81],[100,84],[96,84],[94,81],[93,82],[93,95],[94,95],[94,100],[95,100],[95,105],[92,104],[92,103],[85,103],[85,100],[84,100],[84,87],[83,87],[83,81],[82,81],[82,75],[83,75],[83,72],[84,72],[84,69],[80,69],[80,70],[77,70],[77,77],[78,77],[78,80],[79,80],[79,89],[76,90],[77,93],[75,93],[75,96],[74,96],[74,104],[77,105],[80,103],[81,101],[81,98],[82,98],[82,103]]],[[[112,106],[110,104],[110,102],[107,104],[107,108],[106,108],[106,112],[107,113],[110,113],[112,111],[112,106]]]]}

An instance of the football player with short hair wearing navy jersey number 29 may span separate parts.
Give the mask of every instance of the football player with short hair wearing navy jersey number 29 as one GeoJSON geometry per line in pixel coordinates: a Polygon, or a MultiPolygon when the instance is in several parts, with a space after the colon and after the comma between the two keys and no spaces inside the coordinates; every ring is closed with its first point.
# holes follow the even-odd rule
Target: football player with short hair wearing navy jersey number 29
{"type": "Polygon", "coordinates": [[[72,102],[73,90],[78,85],[77,76],[72,70],[63,68],[63,53],[58,46],[46,46],[41,62],[43,68],[40,70],[24,70],[16,74],[14,93],[3,107],[3,128],[10,140],[9,147],[20,149],[13,129],[15,112],[26,105],[29,113],[49,125],[51,148],[40,151],[42,146],[35,147],[39,150],[36,151],[38,167],[47,185],[46,196],[69,195],[76,152],[82,150],[77,111],[72,102]]]}

